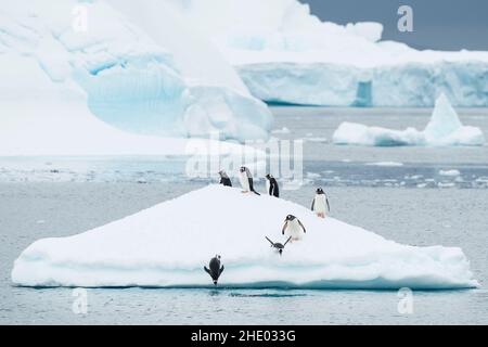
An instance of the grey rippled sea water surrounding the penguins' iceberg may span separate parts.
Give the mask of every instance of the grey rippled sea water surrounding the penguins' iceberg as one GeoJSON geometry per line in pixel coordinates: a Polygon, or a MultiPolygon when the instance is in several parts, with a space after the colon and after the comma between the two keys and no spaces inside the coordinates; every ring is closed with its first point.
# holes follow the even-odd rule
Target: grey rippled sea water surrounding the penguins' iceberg
{"type": "MultiPolygon", "coordinates": [[[[31,242],[84,232],[201,188],[179,158],[0,158],[2,324],[486,324],[488,146],[350,147],[330,143],[341,121],[423,128],[429,110],[274,107],[280,139],[304,139],[305,185],[283,197],[309,206],[316,187],[332,215],[411,245],[460,246],[481,288],[413,293],[401,314],[395,291],[87,291],[87,314],[70,288],[23,288],[13,261],[31,242]]],[[[461,110],[488,134],[487,110],[461,110]]],[[[258,183],[262,190],[264,182],[258,183]]]]}

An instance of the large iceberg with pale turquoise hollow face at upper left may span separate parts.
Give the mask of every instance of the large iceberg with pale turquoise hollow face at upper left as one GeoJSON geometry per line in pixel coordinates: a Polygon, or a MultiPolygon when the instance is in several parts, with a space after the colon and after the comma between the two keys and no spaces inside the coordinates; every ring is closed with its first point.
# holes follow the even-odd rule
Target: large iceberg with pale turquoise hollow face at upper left
{"type": "MultiPolygon", "coordinates": [[[[5,4],[0,9],[0,129],[16,124],[18,132],[36,132],[31,119],[62,126],[84,108],[87,117],[132,134],[219,133],[243,142],[266,140],[271,130],[268,107],[249,94],[210,42],[158,1],[132,1],[132,8],[102,0],[5,4]],[[75,30],[79,7],[87,26],[75,30]]],[[[63,132],[56,130],[46,138],[63,132]]],[[[28,137],[17,144],[25,145],[24,140],[28,137]]]]}

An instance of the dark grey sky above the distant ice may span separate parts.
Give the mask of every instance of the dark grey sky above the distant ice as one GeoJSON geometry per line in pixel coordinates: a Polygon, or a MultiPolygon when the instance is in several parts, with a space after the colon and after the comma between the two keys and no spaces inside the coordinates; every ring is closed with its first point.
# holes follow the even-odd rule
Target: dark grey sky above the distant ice
{"type": "Polygon", "coordinates": [[[418,49],[488,51],[488,0],[300,0],[321,20],[339,24],[373,21],[385,40],[418,49]],[[413,33],[397,27],[400,5],[413,10],[413,33]]]}

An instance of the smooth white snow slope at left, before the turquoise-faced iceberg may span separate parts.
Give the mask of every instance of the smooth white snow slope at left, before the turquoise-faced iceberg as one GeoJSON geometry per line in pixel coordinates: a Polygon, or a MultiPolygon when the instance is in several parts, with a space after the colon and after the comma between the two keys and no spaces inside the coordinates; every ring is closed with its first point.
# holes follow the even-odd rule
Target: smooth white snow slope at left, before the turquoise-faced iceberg
{"type": "Polygon", "coordinates": [[[0,156],[261,155],[251,146],[217,139],[163,138],[117,129],[90,112],[87,94],[76,82],[52,82],[28,56],[0,54],[0,69],[4,69],[0,156]]]}

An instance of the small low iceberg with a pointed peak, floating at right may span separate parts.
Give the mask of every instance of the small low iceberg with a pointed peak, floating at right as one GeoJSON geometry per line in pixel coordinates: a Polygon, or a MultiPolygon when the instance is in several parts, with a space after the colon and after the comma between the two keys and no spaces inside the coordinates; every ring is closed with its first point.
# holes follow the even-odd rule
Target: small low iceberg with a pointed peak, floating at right
{"type": "Polygon", "coordinates": [[[436,100],[431,121],[423,131],[415,128],[393,130],[345,121],[335,130],[333,142],[371,146],[444,146],[484,145],[486,140],[481,129],[463,126],[449,100],[441,94],[436,100]]]}

